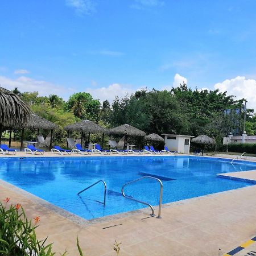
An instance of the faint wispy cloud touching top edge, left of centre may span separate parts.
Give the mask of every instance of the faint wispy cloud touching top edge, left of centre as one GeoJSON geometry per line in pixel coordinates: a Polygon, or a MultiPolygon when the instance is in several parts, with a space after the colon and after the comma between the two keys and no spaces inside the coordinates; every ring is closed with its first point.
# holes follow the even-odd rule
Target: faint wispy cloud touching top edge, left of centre
{"type": "Polygon", "coordinates": [[[66,0],[66,5],[73,7],[78,15],[88,15],[96,11],[95,0],[66,0]]]}

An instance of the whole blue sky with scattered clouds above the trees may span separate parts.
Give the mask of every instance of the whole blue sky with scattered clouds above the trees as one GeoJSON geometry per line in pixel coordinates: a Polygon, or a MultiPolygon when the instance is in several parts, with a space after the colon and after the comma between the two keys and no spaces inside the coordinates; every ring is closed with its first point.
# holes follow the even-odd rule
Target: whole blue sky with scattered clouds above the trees
{"type": "Polygon", "coordinates": [[[1,0],[0,85],[112,102],[220,89],[256,109],[255,0],[1,0]]]}

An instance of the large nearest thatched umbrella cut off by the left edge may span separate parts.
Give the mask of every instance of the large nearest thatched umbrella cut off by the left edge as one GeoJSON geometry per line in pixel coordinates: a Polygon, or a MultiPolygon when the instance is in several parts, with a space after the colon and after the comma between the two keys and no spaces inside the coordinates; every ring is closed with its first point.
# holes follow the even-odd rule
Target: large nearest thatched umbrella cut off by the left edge
{"type": "Polygon", "coordinates": [[[10,90],[0,87],[0,143],[3,126],[27,123],[30,114],[32,110],[24,101],[10,90]]]}

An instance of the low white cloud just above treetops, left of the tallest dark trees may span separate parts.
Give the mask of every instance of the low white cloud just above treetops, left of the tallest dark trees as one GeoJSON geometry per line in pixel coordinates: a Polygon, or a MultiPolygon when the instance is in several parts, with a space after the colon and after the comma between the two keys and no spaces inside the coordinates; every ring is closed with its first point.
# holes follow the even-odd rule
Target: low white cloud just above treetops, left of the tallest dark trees
{"type": "Polygon", "coordinates": [[[125,97],[126,94],[130,95],[131,93],[136,92],[136,90],[132,89],[130,86],[121,84],[111,84],[108,87],[96,89],[88,88],[85,89],[85,91],[92,94],[93,98],[98,98],[101,102],[105,100],[112,102],[116,96],[122,98],[125,97]]]}

